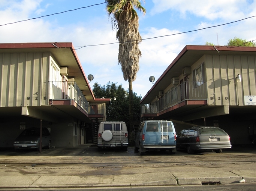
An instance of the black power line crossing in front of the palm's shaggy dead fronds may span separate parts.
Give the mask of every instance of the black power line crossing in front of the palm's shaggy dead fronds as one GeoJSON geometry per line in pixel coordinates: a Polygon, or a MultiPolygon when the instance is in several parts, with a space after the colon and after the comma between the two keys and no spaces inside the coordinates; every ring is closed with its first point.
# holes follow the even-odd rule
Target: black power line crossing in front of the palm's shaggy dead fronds
{"type": "MultiPolygon", "coordinates": [[[[102,46],[102,45],[109,45],[109,44],[128,43],[128,42],[133,42],[133,41],[141,41],[141,40],[149,40],[149,39],[154,39],[154,38],[168,37],[168,36],[173,36],[173,35],[178,35],[178,34],[184,34],[184,33],[188,33],[188,32],[201,31],[201,30],[204,30],[204,29],[214,28],[214,27],[217,27],[217,26],[228,25],[228,24],[232,24],[232,23],[235,23],[235,22],[243,21],[243,20],[245,20],[245,19],[250,19],[250,18],[253,18],[253,17],[256,17],[256,15],[255,15],[255,16],[250,16],[250,17],[247,17],[247,18],[244,18],[244,19],[240,19],[240,20],[238,20],[238,21],[233,21],[233,22],[229,22],[229,23],[221,24],[221,25],[209,26],[209,27],[206,27],[206,28],[196,29],[196,30],[192,30],[192,31],[179,32],[179,33],[175,33],[175,34],[169,34],[169,35],[163,35],[163,36],[151,37],[151,38],[144,38],[144,39],[139,39],[139,40],[124,41],[124,42],[106,43],[106,44],[94,44],[94,45],[87,45],[87,46],[85,45],[85,46],[82,46],[82,47],[80,47],[80,48],[88,47],[88,46],[102,46]]],[[[80,49],[80,48],[76,48],[75,50],[78,50],[78,49],[80,49]]]]}

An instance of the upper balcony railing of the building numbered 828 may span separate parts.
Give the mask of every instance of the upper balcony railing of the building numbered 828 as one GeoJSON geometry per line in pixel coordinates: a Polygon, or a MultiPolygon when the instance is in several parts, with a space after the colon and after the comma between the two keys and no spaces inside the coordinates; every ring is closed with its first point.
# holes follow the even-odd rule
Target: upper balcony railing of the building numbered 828
{"type": "Polygon", "coordinates": [[[104,113],[103,104],[89,105],[75,81],[50,81],[49,99],[51,103],[52,100],[70,100],[70,104],[72,101],[75,101],[75,103],[88,114],[104,113]]]}

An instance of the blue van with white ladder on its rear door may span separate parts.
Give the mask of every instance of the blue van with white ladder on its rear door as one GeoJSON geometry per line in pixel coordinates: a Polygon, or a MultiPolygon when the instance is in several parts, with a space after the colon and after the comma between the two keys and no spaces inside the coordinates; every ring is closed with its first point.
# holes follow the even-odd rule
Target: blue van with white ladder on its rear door
{"type": "Polygon", "coordinates": [[[176,153],[176,132],[171,121],[146,120],[140,123],[135,135],[134,151],[143,155],[153,149],[176,153]]]}

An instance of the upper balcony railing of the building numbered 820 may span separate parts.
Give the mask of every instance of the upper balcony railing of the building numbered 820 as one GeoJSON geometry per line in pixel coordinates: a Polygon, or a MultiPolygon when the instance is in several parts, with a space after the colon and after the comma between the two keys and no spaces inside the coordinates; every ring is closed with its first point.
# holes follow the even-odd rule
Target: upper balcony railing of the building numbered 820
{"type": "Polygon", "coordinates": [[[153,103],[142,104],[141,113],[161,112],[186,100],[207,100],[207,83],[183,82],[171,88],[153,103]]]}

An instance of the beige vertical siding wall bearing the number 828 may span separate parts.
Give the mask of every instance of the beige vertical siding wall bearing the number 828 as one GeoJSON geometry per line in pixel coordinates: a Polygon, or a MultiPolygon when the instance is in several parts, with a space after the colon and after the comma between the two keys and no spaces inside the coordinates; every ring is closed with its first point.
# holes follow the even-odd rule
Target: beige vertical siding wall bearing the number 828
{"type": "Polygon", "coordinates": [[[0,107],[48,104],[49,53],[0,54],[0,107]]]}

